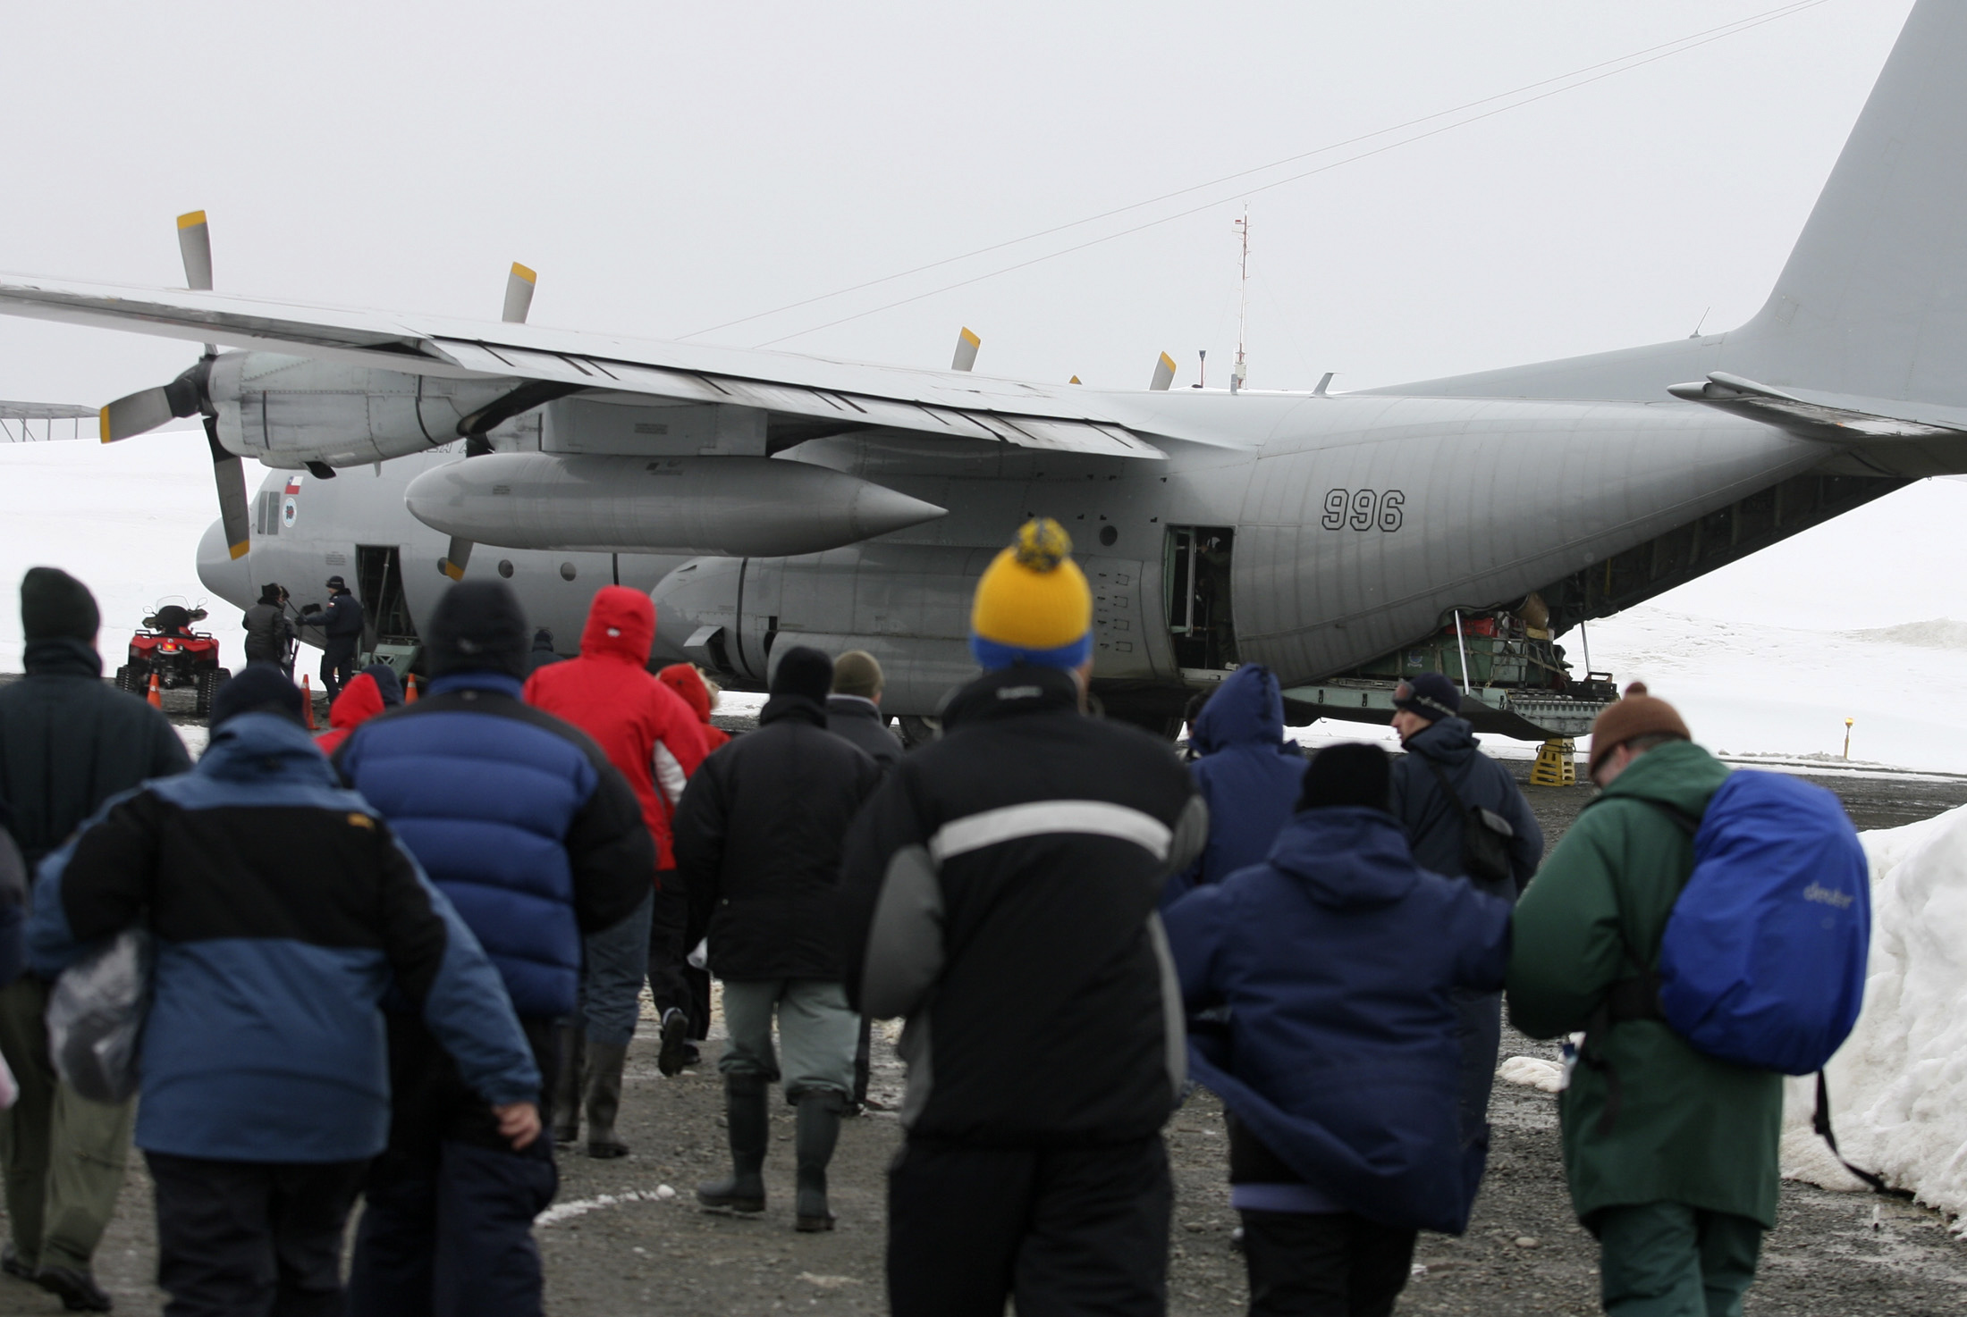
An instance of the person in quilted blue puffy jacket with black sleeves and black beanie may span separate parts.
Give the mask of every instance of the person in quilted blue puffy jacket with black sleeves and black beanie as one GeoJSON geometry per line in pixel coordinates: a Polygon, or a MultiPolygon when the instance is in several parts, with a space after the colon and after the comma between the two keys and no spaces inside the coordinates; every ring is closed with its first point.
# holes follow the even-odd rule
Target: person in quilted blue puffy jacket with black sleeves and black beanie
{"type": "MultiPolygon", "coordinates": [[[[582,936],[643,906],[655,841],[608,755],[521,700],[531,637],[504,582],[450,586],[425,629],[427,694],[356,727],[334,767],[484,944],[551,1109],[555,1024],[574,1010],[582,936]]],[[[348,1311],[537,1313],[533,1217],[559,1183],[553,1140],[513,1150],[496,1138],[407,1012],[389,1012],[389,1079],[395,1122],[370,1172],[348,1311]]]]}

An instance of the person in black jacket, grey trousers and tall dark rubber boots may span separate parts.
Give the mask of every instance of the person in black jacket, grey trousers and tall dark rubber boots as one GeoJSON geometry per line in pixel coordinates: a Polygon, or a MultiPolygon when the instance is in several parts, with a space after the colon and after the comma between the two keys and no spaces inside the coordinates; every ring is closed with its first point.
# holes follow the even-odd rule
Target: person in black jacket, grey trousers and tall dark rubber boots
{"type": "Polygon", "coordinates": [[[718,1061],[732,1174],[696,1189],[704,1207],[765,1211],[767,1085],[799,1109],[795,1225],[830,1231],[826,1164],[854,1091],[860,1020],[842,989],[832,900],[848,824],[879,769],[826,731],[834,662],[816,649],[779,655],[757,731],[704,761],[677,806],[677,871],[710,912],[710,973],[724,981],[730,1046],[718,1061]]]}

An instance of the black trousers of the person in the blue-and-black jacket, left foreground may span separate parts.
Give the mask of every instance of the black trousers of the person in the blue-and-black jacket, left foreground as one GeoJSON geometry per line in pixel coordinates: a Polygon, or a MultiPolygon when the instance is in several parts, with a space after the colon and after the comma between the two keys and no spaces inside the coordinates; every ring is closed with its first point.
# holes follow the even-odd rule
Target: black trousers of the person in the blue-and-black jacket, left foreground
{"type": "Polygon", "coordinates": [[[144,1158],[169,1317],[340,1317],[342,1229],[366,1160],[144,1158]]]}

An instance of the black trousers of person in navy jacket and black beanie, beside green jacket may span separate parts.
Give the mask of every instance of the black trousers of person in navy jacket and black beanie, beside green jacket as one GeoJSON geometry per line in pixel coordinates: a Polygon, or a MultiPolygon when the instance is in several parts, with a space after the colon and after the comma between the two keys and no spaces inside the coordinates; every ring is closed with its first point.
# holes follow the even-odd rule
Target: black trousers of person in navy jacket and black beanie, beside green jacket
{"type": "Polygon", "coordinates": [[[1251,1317],[1387,1317],[1414,1231],[1351,1213],[1243,1211],[1251,1317]]]}

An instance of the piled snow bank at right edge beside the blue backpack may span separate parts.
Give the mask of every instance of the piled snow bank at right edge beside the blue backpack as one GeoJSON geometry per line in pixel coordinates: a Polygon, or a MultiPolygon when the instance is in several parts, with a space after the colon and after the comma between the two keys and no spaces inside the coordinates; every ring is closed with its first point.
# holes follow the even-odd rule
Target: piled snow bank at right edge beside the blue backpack
{"type": "MultiPolygon", "coordinates": [[[[1967,808],[1861,833],[1873,938],[1865,1012],[1831,1058],[1831,1122],[1845,1156],[1967,1234],[1967,808]]],[[[1814,1079],[1790,1079],[1782,1174],[1863,1189],[1810,1128],[1814,1079]]]]}

